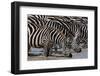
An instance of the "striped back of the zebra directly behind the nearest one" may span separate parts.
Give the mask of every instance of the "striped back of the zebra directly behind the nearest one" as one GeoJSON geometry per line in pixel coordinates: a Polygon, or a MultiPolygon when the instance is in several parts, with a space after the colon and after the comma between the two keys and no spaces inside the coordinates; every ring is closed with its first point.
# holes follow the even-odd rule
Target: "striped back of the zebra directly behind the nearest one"
{"type": "MultiPolygon", "coordinates": [[[[46,16],[46,15],[28,15],[28,23],[31,25],[35,25],[36,28],[47,26],[52,27],[54,29],[59,29],[60,31],[63,30],[63,26],[59,25],[57,22],[53,22],[52,18],[55,16],[46,16]]],[[[56,43],[54,45],[55,50],[57,49],[56,43]]]]}

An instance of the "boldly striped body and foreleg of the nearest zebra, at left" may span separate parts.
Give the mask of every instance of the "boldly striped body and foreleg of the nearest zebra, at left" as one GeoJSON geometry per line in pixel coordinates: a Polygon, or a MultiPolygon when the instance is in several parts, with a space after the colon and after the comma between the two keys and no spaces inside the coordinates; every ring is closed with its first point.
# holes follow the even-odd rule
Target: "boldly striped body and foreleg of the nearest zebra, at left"
{"type": "MultiPolygon", "coordinates": [[[[42,20],[41,20],[42,21],[42,20]]],[[[54,24],[54,23],[53,23],[54,24]]],[[[28,20],[28,47],[34,48],[44,48],[45,49],[45,56],[49,55],[50,48],[53,47],[54,43],[63,45],[63,49],[65,50],[64,46],[64,39],[68,36],[67,29],[63,28],[62,31],[59,29],[54,29],[49,27],[48,25],[51,24],[51,21],[46,23],[46,26],[40,26],[36,23],[32,23],[30,18],[28,20]]],[[[71,53],[67,54],[68,56],[72,56],[71,53]]]]}

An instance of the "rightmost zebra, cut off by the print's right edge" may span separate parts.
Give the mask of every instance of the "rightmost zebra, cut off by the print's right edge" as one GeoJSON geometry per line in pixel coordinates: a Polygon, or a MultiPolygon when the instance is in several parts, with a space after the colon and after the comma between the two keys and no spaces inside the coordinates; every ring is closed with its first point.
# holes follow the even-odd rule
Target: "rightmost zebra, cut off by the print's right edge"
{"type": "Polygon", "coordinates": [[[76,22],[80,26],[80,35],[78,36],[76,42],[78,45],[83,44],[81,48],[87,48],[88,44],[88,17],[72,17],[74,20],[73,22],[76,22]]]}

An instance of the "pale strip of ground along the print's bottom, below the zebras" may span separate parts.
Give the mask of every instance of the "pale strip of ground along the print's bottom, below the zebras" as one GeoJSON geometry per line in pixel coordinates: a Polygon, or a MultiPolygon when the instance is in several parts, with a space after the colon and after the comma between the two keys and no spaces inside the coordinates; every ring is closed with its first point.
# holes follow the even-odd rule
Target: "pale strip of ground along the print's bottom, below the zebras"
{"type": "Polygon", "coordinates": [[[87,49],[82,49],[82,52],[80,53],[72,53],[72,58],[69,57],[65,57],[63,54],[54,54],[52,56],[28,56],[28,60],[29,61],[33,61],[33,60],[59,60],[59,59],[84,59],[84,58],[88,58],[88,50],[87,49]]]}

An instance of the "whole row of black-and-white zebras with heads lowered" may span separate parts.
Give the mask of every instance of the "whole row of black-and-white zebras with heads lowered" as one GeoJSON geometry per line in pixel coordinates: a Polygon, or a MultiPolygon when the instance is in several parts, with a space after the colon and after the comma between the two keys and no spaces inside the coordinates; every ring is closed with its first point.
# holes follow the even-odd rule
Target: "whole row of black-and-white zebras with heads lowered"
{"type": "Polygon", "coordinates": [[[57,51],[57,46],[63,48],[63,54],[72,57],[67,48],[81,52],[82,46],[87,47],[88,30],[87,17],[74,16],[48,16],[28,15],[28,55],[30,48],[43,48],[44,55],[48,57],[52,47],[57,51]],[[69,47],[70,46],[70,47],[69,47]]]}

